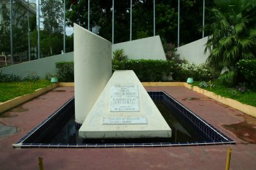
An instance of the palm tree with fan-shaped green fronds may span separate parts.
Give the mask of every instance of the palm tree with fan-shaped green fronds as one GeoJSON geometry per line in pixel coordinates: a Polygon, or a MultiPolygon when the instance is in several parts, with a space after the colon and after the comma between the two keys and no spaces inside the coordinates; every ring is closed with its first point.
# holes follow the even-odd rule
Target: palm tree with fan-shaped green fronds
{"type": "Polygon", "coordinates": [[[228,71],[222,80],[234,82],[236,63],[256,57],[256,0],[216,0],[212,8],[214,22],[205,25],[210,36],[205,52],[208,64],[219,73],[228,71]]]}

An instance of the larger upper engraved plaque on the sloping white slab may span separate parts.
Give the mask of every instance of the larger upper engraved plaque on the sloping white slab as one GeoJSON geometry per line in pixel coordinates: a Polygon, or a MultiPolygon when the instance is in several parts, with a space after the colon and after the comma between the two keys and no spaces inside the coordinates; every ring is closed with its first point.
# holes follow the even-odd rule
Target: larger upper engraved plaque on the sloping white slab
{"type": "Polygon", "coordinates": [[[110,111],[140,111],[138,85],[111,85],[110,111]]]}

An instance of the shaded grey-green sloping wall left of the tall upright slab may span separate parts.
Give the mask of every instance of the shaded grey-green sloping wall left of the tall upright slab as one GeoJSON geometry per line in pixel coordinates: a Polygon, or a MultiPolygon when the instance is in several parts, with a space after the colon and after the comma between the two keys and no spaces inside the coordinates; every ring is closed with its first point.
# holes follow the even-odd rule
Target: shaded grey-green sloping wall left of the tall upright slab
{"type": "Polygon", "coordinates": [[[8,67],[0,68],[0,72],[15,74],[17,76],[24,76],[26,74],[37,74],[40,78],[44,79],[46,74],[56,74],[57,69],[55,63],[58,61],[73,61],[74,52],[63,53],[60,55],[53,55],[51,57],[45,57],[38,60],[31,60],[28,62],[22,62],[8,67]]]}

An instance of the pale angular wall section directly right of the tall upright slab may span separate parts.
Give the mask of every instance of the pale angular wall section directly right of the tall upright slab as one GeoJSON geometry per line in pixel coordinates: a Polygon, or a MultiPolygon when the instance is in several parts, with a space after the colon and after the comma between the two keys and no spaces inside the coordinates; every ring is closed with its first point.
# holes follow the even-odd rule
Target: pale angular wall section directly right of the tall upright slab
{"type": "Polygon", "coordinates": [[[124,53],[128,56],[128,59],[166,60],[164,48],[159,36],[114,44],[112,45],[112,52],[118,48],[124,49],[124,53]]]}

